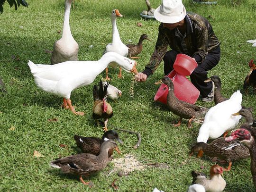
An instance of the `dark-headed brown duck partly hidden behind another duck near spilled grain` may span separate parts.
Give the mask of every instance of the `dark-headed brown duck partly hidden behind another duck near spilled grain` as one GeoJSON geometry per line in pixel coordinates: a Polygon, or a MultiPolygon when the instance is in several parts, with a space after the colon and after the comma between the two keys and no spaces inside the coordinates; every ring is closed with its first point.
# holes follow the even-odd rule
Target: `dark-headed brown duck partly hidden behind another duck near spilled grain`
{"type": "MultiPolygon", "coordinates": [[[[82,150],[83,153],[91,153],[93,155],[99,155],[101,150],[101,144],[108,140],[117,140],[119,143],[123,144],[120,140],[119,135],[114,130],[109,130],[102,135],[102,138],[98,137],[82,137],[79,135],[74,135],[74,140],[78,148],[82,150]]],[[[113,154],[113,150],[109,150],[109,157],[113,154]]]]}

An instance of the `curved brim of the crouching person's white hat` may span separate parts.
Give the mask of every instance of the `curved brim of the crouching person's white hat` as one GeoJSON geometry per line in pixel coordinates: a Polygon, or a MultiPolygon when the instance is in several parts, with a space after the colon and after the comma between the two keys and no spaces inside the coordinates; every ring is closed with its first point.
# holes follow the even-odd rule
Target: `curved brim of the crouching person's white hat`
{"type": "Polygon", "coordinates": [[[183,6],[183,12],[180,16],[163,15],[160,13],[160,7],[161,5],[155,9],[154,16],[155,16],[155,19],[157,21],[160,21],[161,23],[169,23],[169,24],[177,23],[183,20],[183,18],[185,18],[186,16],[186,9],[184,6],[183,6]]]}

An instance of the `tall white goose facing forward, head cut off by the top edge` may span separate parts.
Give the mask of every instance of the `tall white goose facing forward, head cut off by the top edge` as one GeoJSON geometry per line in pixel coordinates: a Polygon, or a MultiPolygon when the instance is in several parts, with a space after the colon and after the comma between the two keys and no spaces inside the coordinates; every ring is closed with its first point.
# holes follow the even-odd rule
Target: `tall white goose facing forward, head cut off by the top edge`
{"type": "Polygon", "coordinates": [[[65,1],[62,37],[60,40],[55,42],[53,53],[51,56],[52,65],[64,61],[76,61],[78,57],[78,44],[74,40],[69,26],[69,14],[72,1],[73,0],[65,1]]]}

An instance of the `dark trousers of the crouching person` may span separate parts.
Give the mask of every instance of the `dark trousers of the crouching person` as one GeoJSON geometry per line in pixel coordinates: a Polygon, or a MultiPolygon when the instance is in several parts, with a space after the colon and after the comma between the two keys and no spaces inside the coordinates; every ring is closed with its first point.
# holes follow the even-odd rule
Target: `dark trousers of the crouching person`
{"type": "MultiPolygon", "coordinates": [[[[164,72],[168,75],[174,68],[174,61],[178,52],[175,50],[169,50],[165,53],[164,57],[164,72]]],[[[212,90],[212,83],[204,83],[204,80],[208,79],[207,74],[210,69],[215,67],[219,63],[220,48],[208,53],[205,60],[199,64],[190,75],[191,82],[200,91],[202,97],[206,97],[212,90]]]]}

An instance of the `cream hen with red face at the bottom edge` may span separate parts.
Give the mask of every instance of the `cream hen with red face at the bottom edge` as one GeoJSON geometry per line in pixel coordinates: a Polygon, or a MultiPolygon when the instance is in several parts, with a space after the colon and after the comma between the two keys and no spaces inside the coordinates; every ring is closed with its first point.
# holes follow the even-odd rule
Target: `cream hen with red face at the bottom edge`
{"type": "Polygon", "coordinates": [[[210,167],[210,179],[204,173],[192,171],[192,184],[201,184],[206,192],[222,192],[226,187],[226,181],[222,178],[224,168],[219,165],[210,167]]]}

